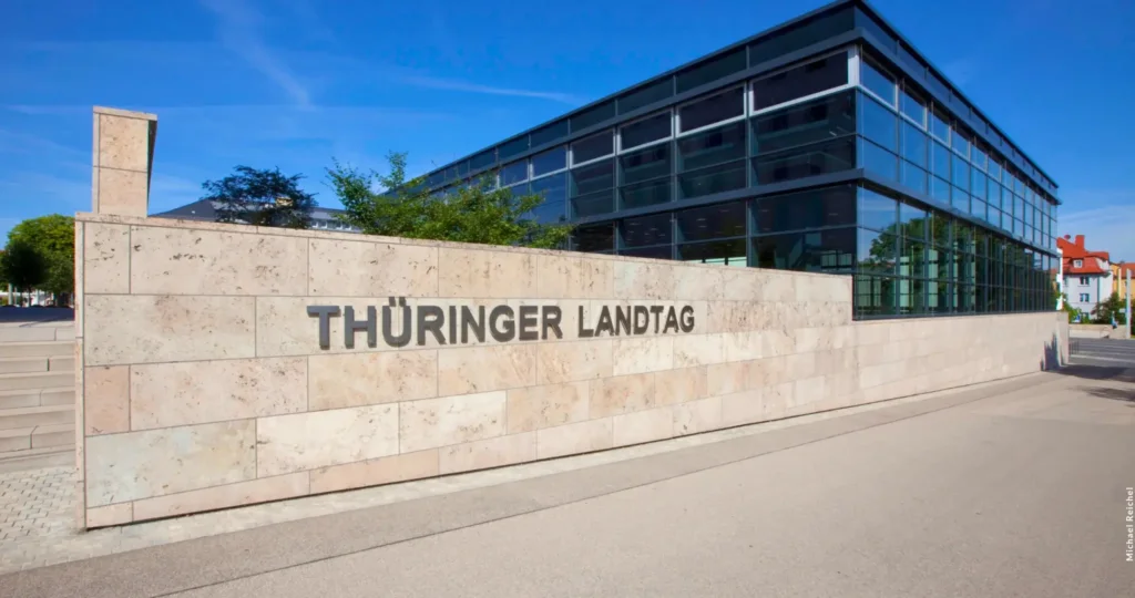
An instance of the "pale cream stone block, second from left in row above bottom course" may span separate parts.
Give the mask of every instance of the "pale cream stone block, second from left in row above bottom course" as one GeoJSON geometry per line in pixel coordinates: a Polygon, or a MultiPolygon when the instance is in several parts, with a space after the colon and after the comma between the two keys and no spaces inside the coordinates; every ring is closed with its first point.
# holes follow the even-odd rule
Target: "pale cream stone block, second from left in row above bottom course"
{"type": "Polygon", "coordinates": [[[257,420],[259,478],[397,453],[396,405],[367,405],[257,420]]]}

